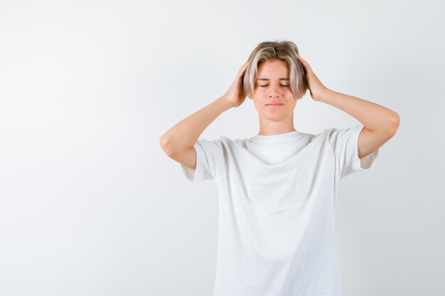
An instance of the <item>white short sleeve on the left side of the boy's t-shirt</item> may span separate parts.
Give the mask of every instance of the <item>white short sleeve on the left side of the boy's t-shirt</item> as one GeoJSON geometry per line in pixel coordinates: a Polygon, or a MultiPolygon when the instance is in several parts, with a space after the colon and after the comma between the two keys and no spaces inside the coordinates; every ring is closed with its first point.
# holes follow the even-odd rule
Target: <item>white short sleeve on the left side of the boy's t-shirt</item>
{"type": "Polygon", "coordinates": [[[225,149],[218,139],[199,139],[193,145],[196,150],[196,168],[188,168],[181,163],[183,175],[191,182],[217,180],[225,170],[225,149]]]}

